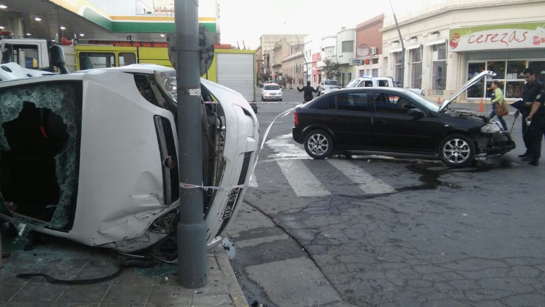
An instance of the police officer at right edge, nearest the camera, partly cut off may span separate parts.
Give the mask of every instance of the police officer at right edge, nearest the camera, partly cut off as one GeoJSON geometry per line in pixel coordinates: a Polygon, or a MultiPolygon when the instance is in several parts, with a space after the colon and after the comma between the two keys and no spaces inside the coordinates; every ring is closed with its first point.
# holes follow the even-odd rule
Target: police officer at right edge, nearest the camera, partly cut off
{"type": "MultiPolygon", "coordinates": [[[[530,69],[526,69],[528,71],[530,69]]],[[[531,71],[531,74],[534,72],[531,71]]],[[[526,74],[525,74],[526,75],[526,74]]],[[[535,75],[534,75],[535,78],[535,75]]],[[[530,114],[524,119],[529,124],[528,134],[530,135],[530,152],[524,161],[530,161],[530,165],[538,166],[541,156],[541,140],[545,134],[545,86],[536,80],[536,85],[540,91],[537,92],[535,99],[532,99],[530,114]]]]}

